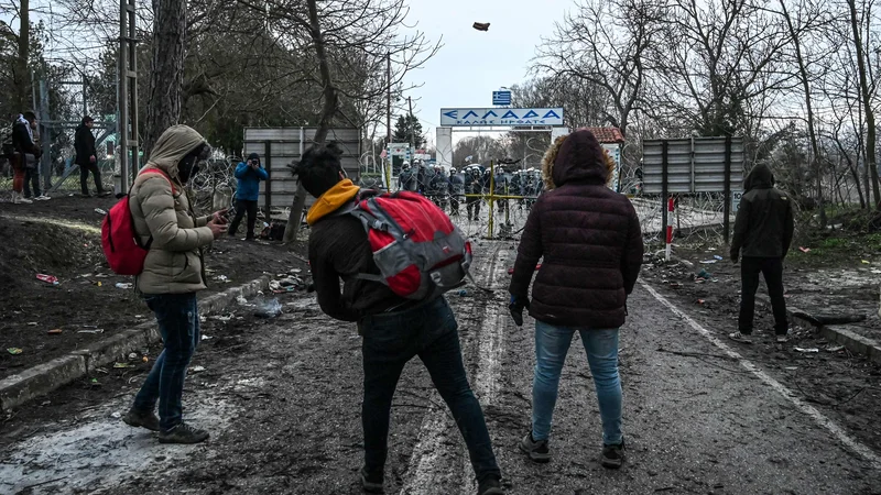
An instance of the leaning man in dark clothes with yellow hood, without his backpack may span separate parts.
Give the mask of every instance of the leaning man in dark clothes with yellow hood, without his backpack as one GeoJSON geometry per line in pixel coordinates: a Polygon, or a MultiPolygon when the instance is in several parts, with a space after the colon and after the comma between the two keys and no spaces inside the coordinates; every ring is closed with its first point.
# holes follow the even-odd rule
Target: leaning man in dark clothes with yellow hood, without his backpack
{"type": "Polygon", "coordinates": [[[340,209],[352,207],[361,197],[361,190],[346,178],[340,156],[341,151],[333,143],[314,146],[296,164],[294,173],[317,198],[306,221],[312,229],[309,265],[318,305],[331,318],[357,321],[363,338],[361,484],[367,492],[384,493],[392,397],[404,365],[418,355],[465,438],[479,482],[478,493],[503,494],[501,472],[480,404],[468,385],[458,326],[447,300],[404,299],[387,285],[357,276],[380,272],[360,220],[339,215],[340,209]]]}

